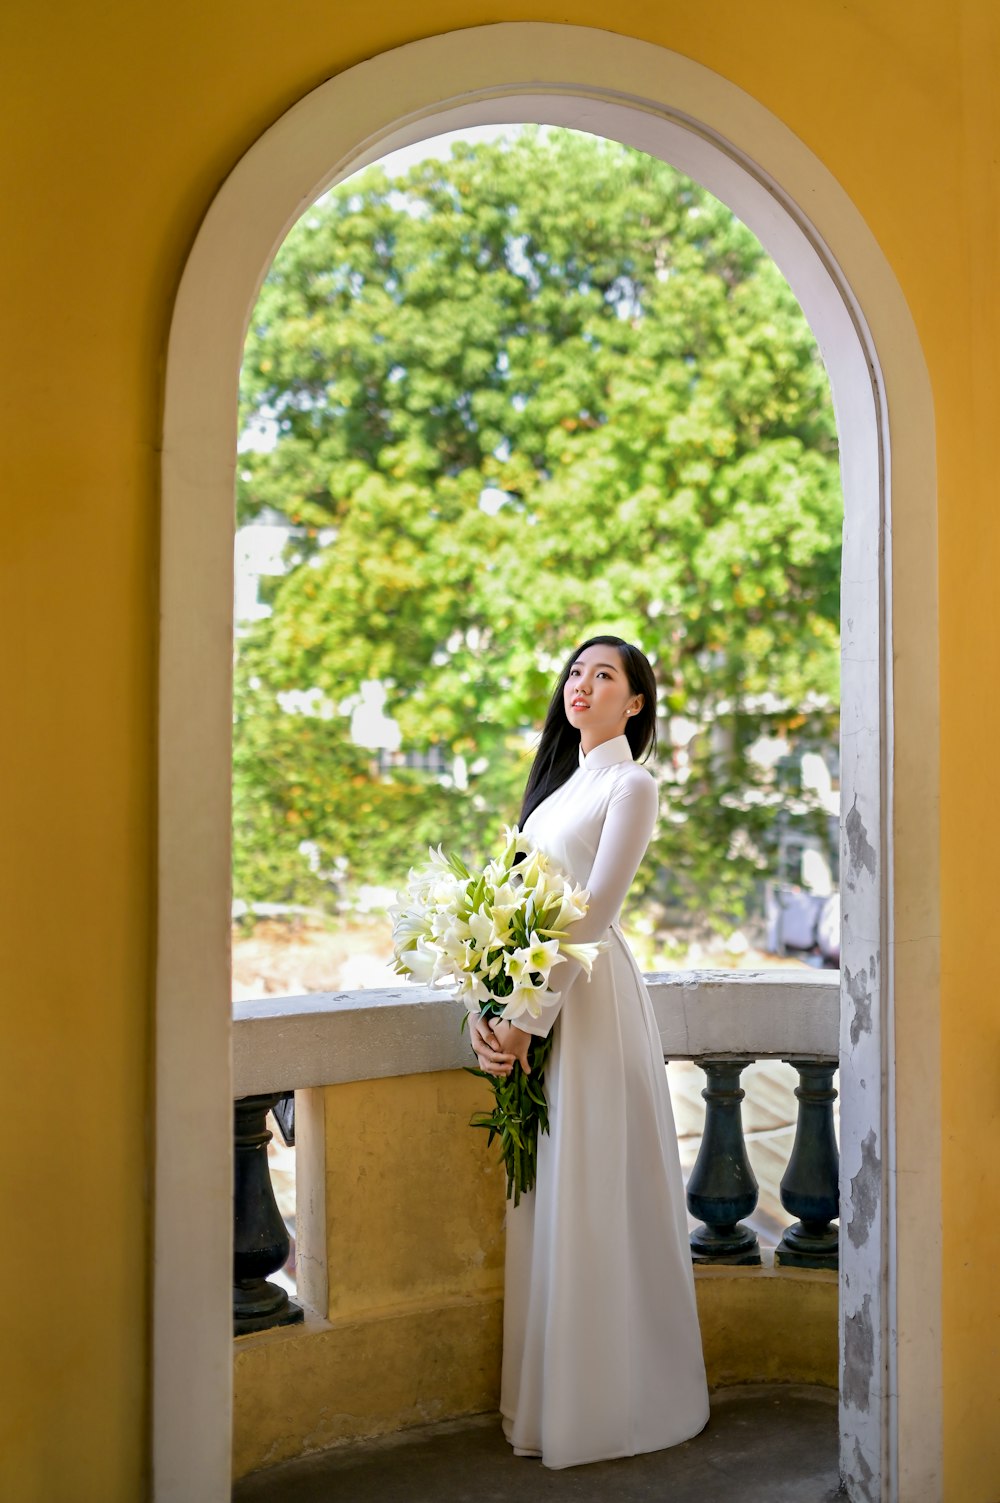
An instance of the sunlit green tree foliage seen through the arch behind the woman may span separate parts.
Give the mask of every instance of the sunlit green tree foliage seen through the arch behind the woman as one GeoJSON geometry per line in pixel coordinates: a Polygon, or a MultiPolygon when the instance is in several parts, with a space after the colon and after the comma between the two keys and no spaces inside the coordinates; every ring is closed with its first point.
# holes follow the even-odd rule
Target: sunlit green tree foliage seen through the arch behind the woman
{"type": "Polygon", "coordinates": [[[371,167],[281,246],[241,419],[277,442],[241,455],[239,520],[293,528],[238,642],[241,896],[394,882],[429,840],[475,858],[516,818],[553,669],[605,630],[701,727],[662,747],[647,881],[743,911],[788,819],[747,748],[836,723],[842,504],[815,341],[726,207],[565,131],[371,167]],[[346,715],[277,697],[338,709],[365,679],[466,788],[379,774],[346,715]]]}

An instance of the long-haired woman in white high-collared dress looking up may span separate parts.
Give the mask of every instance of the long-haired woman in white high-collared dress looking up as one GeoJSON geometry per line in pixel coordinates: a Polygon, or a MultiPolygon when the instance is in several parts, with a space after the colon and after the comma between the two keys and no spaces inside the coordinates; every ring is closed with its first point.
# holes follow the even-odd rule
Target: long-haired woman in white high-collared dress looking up
{"type": "Polygon", "coordinates": [[[656,681],[638,648],[591,637],[549,705],[520,825],[589,888],[573,939],[608,941],[588,980],[574,960],[523,1027],[472,1022],[492,1075],[528,1067],[555,1025],[549,1133],[535,1189],[507,1213],[504,1432],[549,1467],[674,1446],[705,1425],[708,1392],[684,1186],[663,1051],[618,912],[657,813],[642,756],[656,681]]]}

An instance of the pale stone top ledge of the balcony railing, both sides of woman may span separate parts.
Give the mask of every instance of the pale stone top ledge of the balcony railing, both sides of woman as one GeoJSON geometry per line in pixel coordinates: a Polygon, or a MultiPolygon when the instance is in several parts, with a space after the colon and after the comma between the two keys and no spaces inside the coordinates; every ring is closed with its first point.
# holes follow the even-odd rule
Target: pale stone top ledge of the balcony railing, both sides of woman
{"type": "MultiPolygon", "coordinates": [[[[645,980],[669,1060],[838,1055],[833,971],[666,971],[645,980]]],[[[235,1094],[460,1069],[472,1061],[460,1021],[448,992],[409,983],[236,1003],[235,1094]]]]}

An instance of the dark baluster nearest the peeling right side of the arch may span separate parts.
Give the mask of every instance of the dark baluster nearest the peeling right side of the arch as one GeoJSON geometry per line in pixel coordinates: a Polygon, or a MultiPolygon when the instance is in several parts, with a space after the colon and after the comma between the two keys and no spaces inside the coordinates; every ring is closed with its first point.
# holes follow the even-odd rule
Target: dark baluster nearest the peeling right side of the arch
{"type": "Polygon", "coordinates": [[[833,1072],[836,1064],[788,1060],[798,1070],[798,1121],[788,1168],[782,1177],[782,1205],[800,1219],[788,1226],[774,1263],[792,1269],[836,1269],[841,1160],[833,1132],[833,1072]]]}

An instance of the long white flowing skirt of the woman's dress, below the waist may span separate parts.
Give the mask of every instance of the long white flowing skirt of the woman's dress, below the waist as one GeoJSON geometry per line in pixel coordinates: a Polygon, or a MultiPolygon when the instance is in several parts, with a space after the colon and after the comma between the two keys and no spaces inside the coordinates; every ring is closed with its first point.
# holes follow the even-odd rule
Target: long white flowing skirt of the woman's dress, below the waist
{"type": "Polygon", "coordinates": [[[559,1012],[546,1094],[537,1184],[507,1211],[504,1432],[549,1467],[678,1444],[708,1419],[684,1184],[617,924],[559,1012]]]}

